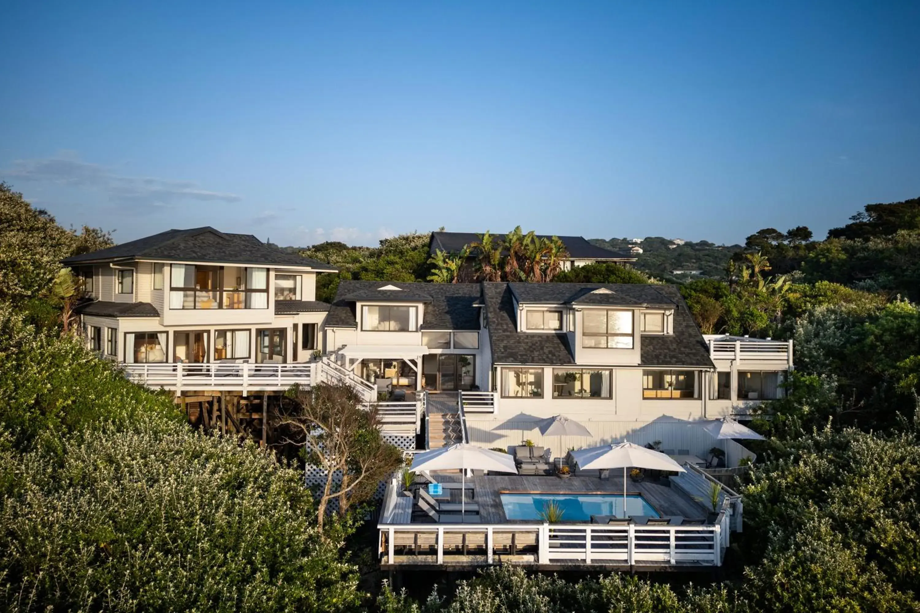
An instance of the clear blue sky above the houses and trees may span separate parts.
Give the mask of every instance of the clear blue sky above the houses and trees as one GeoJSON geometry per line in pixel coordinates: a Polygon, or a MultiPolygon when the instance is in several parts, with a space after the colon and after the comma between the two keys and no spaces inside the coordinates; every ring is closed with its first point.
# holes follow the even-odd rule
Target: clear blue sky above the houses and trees
{"type": "Polygon", "coordinates": [[[0,179],[213,225],[823,235],[920,196],[920,3],[14,3],[0,179]],[[194,6],[192,6],[194,5],[194,6]]]}

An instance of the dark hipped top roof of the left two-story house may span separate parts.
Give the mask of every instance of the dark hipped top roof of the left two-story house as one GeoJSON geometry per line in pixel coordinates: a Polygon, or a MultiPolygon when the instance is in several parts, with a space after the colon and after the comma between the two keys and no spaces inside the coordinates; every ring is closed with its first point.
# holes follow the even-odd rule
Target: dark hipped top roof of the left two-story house
{"type": "Polygon", "coordinates": [[[273,245],[262,243],[252,234],[223,233],[210,226],[190,230],[168,230],[136,241],[116,244],[108,249],[74,255],[64,259],[63,264],[73,266],[121,259],[226,262],[336,270],[336,267],[318,260],[285,253],[273,245]]]}

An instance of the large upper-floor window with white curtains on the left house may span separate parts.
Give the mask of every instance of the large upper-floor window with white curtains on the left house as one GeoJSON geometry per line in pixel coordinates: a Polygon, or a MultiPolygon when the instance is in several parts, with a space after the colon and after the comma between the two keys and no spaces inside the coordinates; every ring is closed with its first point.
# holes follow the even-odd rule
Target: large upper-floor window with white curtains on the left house
{"type": "Polygon", "coordinates": [[[170,309],[267,309],[269,270],[173,264],[170,309]]]}

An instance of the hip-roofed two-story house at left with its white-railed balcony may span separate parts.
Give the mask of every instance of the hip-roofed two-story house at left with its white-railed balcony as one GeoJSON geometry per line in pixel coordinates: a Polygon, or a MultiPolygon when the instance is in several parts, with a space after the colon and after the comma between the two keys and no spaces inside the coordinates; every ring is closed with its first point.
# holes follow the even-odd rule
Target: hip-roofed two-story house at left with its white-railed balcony
{"type": "Polygon", "coordinates": [[[169,230],[63,264],[83,279],[89,300],[77,312],[87,343],[134,380],[190,403],[309,383],[296,365],[323,348],[329,305],[316,301],[316,275],[334,267],[211,227],[169,230]]]}

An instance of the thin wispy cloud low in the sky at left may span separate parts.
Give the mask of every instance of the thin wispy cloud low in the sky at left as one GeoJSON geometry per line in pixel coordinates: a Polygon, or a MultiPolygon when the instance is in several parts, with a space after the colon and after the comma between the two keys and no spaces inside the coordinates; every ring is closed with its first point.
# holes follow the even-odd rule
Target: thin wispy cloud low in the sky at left
{"type": "Polygon", "coordinates": [[[166,207],[187,201],[238,202],[236,194],[201,189],[192,181],[177,181],[149,176],[121,176],[109,168],[75,159],[72,153],[38,160],[17,160],[3,174],[22,181],[55,183],[63,186],[95,189],[106,194],[109,202],[122,208],[141,206],[166,207]]]}

